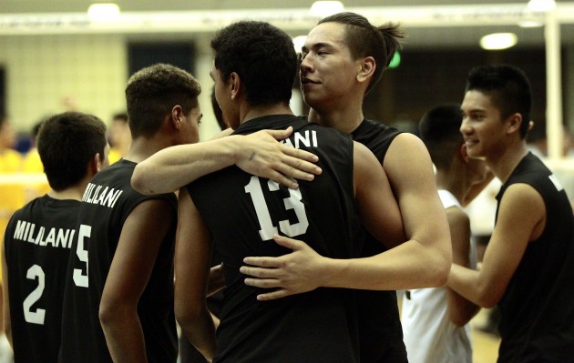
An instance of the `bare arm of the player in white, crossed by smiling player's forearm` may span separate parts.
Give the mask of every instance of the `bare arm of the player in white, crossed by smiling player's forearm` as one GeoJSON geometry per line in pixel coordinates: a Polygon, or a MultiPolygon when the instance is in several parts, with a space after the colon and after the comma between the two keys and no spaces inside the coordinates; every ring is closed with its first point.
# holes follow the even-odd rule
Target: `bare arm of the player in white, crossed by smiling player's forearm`
{"type": "MultiPolygon", "coordinates": [[[[470,267],[470,221],[459,207],[446,209],[450,237],[453,243],[453,263],[470,267]]],[[[477,305],[458,295],[451,288],[446,288],[448,317],[457,327],[463,327],[477,312],[477,305]]]]}

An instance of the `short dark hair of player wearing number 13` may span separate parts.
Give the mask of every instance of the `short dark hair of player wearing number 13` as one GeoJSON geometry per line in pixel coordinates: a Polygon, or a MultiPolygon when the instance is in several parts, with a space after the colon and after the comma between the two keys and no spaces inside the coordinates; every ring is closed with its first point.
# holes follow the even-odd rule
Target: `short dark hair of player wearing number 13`
{"type": "Polygon", "coordinates": [[[223,82],[237,73],[251,106],[289,104],[298,62],[287,33],[269,23],[240,21],[220,29],[211,49],[223,82]]]}

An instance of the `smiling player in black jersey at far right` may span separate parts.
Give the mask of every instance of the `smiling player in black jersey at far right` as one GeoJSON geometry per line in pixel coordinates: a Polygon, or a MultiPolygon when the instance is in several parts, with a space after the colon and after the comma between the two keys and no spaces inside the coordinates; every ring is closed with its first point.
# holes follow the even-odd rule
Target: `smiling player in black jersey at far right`
{"type": "Polygon", "coordinates": [[[574,217],[556,176],[528,152],[531,104],[517,67],[470,71],[460,131],[502,187],[481,269],[453,264],[448,286],[498,306],[498,362],[574,362],[574,217]]]}

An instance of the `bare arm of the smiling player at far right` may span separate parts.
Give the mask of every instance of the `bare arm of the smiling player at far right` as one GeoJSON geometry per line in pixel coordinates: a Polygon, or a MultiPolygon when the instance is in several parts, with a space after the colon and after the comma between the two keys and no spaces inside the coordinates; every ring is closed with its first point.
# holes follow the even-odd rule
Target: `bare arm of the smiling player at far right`
{"type": "Polygon", "coordinates": [[[453,265],[448,287],[478,306],[494,307],[504,295],[528,242],[540,236],[545,224],[546,208],[538,192],[526,184],[508,187],[481,269],[453,265]]]}

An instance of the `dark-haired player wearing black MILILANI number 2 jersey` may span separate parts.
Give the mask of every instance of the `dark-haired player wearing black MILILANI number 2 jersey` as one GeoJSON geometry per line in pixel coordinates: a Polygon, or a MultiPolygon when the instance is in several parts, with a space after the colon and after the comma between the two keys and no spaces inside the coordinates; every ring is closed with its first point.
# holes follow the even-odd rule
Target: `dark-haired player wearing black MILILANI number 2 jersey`
{"type": "Polygon", "coordinates": [[[77,212],[87,183],[108,165],[106,126],[78,112],[51,116],[37,149],[51,190],[15,212],[3,245],[4,328],[16,363],[56,362],[77,212]]]}

